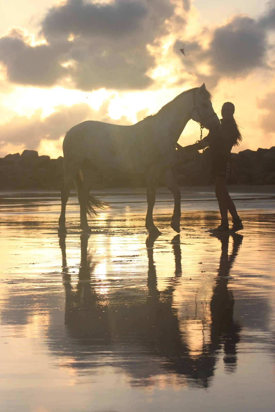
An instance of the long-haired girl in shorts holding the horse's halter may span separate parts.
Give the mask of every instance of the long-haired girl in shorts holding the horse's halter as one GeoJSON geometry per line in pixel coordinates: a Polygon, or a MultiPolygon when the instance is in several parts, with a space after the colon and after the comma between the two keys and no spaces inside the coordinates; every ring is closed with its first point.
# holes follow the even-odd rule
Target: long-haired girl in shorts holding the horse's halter
{"type": "Polygon", "coordinates": [[[211,171],[216,178],[215,192],[221,213],[221,225],[216,227],[216,229],[213,229],[212,232],[229,231],[228,210],[233,218],[233,226],[230,228],[230,231],[237,232],[238,230],[243,229],[242,220],[237,214],[235,204],[226,187],[230,175],[231,149],[233,146],[238,146],[242,141],[242,135],[233,117],[234,111],[235,106],[233,103],[223,103],[223,107],[221,108],[222,119],[220,135],[209,133],[201,141],[185,147],[181,147],[177,144],[178,149],[182,152],[200,150],[204,149],[204,147],[209,147],[210,149],[210,157],[212,161],[211,171]]]}

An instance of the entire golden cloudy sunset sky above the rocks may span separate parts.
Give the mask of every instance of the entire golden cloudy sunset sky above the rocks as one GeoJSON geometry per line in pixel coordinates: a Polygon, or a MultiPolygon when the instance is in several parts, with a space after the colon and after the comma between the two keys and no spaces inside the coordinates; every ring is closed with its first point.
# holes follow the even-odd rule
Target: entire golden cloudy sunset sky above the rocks
{"type": "Polygon", "coordinates": [[[202,83],[219,117],[235,105],[233,151],[275,145],[275,0],[0,3],[0,157],[58,157],[75,124],[134,124],[202,83]]]}

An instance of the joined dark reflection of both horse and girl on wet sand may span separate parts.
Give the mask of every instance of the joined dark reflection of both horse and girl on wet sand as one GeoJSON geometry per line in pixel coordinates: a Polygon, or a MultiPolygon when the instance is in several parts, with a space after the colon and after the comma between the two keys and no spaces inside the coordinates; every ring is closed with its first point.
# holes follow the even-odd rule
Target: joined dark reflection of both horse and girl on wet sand
{"type": "MultiPolygon", "coordinates": [[[[72,286],[66,265],[66,235],[60,235],[62,251],[63,279],[65,288],[65,325],[68,337],[62,342],[60,352],[74,359],[73,367],[95,368],[113,365],[123,368],[142,384],[148,384],[149,377],[160,370],[169,370],[189,379],[191,384],[207,387],[209,378],[214,375],[217,357],[228,337],[226,355],[233,353],[238,342],[240,328],[232,327],[233,295],[227,290],[227,276],[237,255],[240,244],[233,246],[228,258],[228,239],[222,240],[221,265],[223,276],[219,275],[211,301],[212,323],[211,342],[204,344],[199,355],[191,356],[188,344],[180,329],[178,310],[173,305],[173,295],[181,280],[180,236],[172,239],[175,260],[174,277],[170,278],[165,290],[159,291],[154,262],[155,236],[146,239],[148,255],[148,293],[125,294],[110,291],[110,297],[102,297],[96,291],[94,279],[95,263],[87,253],[89,235],[82,234],[81,261],[76,286],[72,286]],[[227,241],[227,248],[226,248],[227,241]],[[227,256],[227,258],[226,258],[227,256]],[[223,279],[221,279],[223,277],[223,279]],[[224,283],[221,283],[223,281],[224,283]],[[221,305],[229,308],[221,311],[221,305]],[[99,355],[100,354],[100,355],[99,355]],[[155,358],[159,362],[152,362],[155,358]],[[144,366],[146,365],[146,366],[144,366]]],[[[235,241],[236,242],[236,241],[235,241]]],[[[56,350],[56,348],[55,348],[56,350]]],[[[60,353],[59,353],[60,354],[60,353]]],[[[232,359],[231,359],[232,363],[232,359]]]]}

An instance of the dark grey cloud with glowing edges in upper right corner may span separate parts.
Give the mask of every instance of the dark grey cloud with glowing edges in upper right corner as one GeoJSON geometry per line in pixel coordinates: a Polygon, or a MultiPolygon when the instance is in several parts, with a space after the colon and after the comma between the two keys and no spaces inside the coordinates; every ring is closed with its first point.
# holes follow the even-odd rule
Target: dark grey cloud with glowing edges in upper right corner
{"type": "Polygon", "coordinates": [[[259,19],[234,15],[222,26],[212,30],[203,28],[192,40],[179,39],[174,51],[184,44],[185,70],[194,73],[200,81],[216,86],[221,78],[243,78],[256,68],[267,68],[269,48],[268,30],[275,29],[275,2],[269,2],[259,19]],[[201,40],[209,37],[207,47],[201,40]],[[203,69],[205,73],[203,73],[203,69]]]}

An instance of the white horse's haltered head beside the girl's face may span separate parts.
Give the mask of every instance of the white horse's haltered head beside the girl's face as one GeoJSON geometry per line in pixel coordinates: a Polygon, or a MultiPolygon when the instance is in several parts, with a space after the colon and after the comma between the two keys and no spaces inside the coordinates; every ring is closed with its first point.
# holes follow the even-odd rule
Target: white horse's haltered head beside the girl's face
{"type": "Polygon", "coordinates": [[[209,131],[219,132],[221,129],[221,122],[214,112],[211,94],[206,89],[205,84],[193,91],[193,108],[190,112],[190,118],[209,131]]]}

